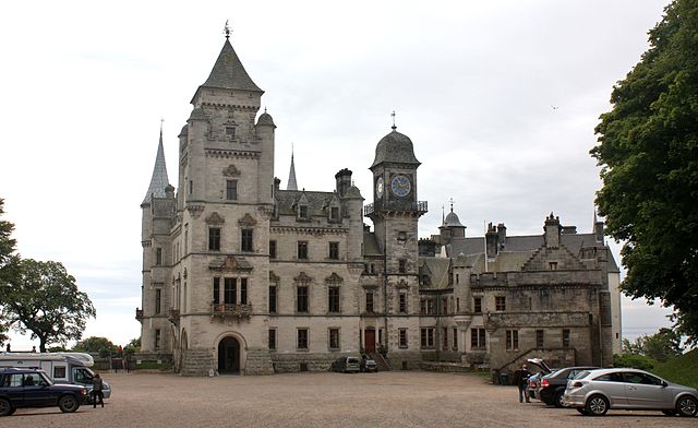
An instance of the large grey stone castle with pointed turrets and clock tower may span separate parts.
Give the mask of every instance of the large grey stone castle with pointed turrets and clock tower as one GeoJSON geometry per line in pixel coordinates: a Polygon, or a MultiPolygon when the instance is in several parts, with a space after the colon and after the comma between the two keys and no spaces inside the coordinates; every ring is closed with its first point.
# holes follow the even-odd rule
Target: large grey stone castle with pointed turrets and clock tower
{"type": "Polygon", "coordinates": [[[542,235],[498,224],[466,237],[452,206],[419,239],[420,162],[395,127],[370,165],[371,203],[348,169],[334,191],[298,190],[291,162],[282,190],[262,94],[226,37],[179,134],[177,191],[160,132],[141,205],[144,355],[206,376],[327,370],[360,353],[384,369],[503,369],[533,356],[605,366],[619,353],[603,223],[579,234],[551,213],[542,235]]]}

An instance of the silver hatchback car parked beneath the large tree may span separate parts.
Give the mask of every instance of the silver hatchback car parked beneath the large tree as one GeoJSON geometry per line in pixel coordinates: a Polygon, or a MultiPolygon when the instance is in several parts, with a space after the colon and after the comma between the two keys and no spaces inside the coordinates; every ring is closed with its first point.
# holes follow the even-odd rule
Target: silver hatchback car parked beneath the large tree
{"type": "Polygon", "coordinates": [[[585,370],[567,381],[564,403],[582,415],[603,416],[609,408],[662,411],[696,416],[698,390],[627,368],[585,370]]]}

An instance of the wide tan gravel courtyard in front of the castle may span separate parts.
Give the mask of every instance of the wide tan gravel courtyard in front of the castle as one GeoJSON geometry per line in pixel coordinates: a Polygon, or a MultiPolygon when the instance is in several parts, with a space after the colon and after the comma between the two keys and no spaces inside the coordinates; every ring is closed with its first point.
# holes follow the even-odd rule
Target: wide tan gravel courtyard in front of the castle
{"type": "Polygon", "coordinates": [[[182,378],[105,373],[105,408],[20,409],[12,427],[696,427],[697,418],[611,411],[585,417],[540,402],[519,404],[516,389],[474,374],[390,371],[268,377],[182,378]]]}

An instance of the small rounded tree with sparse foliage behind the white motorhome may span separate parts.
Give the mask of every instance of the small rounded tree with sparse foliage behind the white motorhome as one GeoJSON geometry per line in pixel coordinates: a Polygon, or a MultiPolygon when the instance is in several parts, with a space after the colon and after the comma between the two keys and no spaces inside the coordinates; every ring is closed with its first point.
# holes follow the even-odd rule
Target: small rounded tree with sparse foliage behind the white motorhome
{"type": "Polygon", "coordinates": [[[19,277],[0,284],[3,314],[20,331],[32,332],[46,352],[48,344],[80,340],[85,323],[96,311],[87,295],[77,289],[75,278],[58,262],[19,262],[19,277]]]}

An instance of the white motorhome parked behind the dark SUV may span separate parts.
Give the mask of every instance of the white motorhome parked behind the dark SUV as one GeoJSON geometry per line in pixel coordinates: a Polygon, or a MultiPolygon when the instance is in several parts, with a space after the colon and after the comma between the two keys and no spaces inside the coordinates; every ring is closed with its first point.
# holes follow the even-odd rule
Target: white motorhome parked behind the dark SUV
{"type": "MultiPolygon", "coordinates": [[[[89,367],[95,360],[84,353],[0,353],[0,368],[36,368],[41,369],[56,383],[73,383],[92,391],[92,378],[95,376],[89,367]]],[[[111,387],[104,383],[105,399],[111,396],[111,387]]]]}

